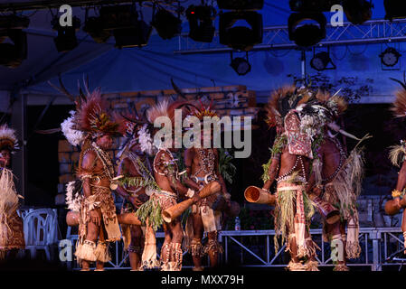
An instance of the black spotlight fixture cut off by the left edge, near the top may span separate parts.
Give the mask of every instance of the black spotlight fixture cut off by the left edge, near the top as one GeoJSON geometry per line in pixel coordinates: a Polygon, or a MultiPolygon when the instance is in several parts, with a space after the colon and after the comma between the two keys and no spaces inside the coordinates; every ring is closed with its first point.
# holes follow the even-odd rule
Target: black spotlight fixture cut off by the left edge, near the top
{"type": "Polygon", "coordinates": [[[27,34],[22,29],[29,24],[27,17],[14,14],[0,16],[0,65],[16,68],[27,58],[27,34]]]}

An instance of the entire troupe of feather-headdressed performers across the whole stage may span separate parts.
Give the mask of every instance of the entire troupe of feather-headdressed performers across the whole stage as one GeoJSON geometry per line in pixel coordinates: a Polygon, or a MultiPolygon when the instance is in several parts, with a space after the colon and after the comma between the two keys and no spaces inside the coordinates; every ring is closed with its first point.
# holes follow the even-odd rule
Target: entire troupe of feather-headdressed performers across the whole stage
{"type": "MultiPolygon", "coordinates": [[[[323,219],[323,239],[330,243],[334,270],[347,271],[346,260],[360,256],[356,207],[364,167],[360,144],[370,136],[359,139],[337,125],[346,107],[345,98],[338,93],[295,86],[275,90],[266,106],[266,122],[276,128],[277,136],[269,162],[263,165],[262,188],[248,188],[254,188],[262,201],[252,200],[248,194],[246,199],[274,206],[275,250],[278,252],[281,244],[286,247],[290,271],[318,271],[316,250],[320,248],[309,230],[316,211],[323,219]],[[357,141],[351,152],[347,152],[342,135],[357,141]]],[[[77,98],[76,110],[61,124],[67,140],[80,146],[77,178],[67,185],[66,203],[68,224],[79,225],[75,256],[81,270],[90,270],[92,263],[96,263],[95,270],[104,270],[110,260],[109,243],[121,238],[133,271],[180,271],[185,250],[193,256],[194,271],[203,270],[206,254],[210,266],[217,266],[222,253],[218,241],[222,214],[232,207],[220,172],[222,151],[199,145],[177,149],[172,145],[175,138],[170,144],[157,144],[154,140],[160,128],[154,123],[159,117],[168,117],[174,133],[176,109],[182,109],[184,117],[199,120],[217,116],[212,106],[186,100],[159,102],[143,115],[137,109],[111,112],[99,89],[87,89],[87,94],[80,93],[77,98]],[[113,156],[110,149],[117,137],[124,142],[113,156]],[[124,200],[119,212],[113,191],[124,200]],[[186,219],[184,226],[182,218],[186,219]],[[156,231],[161,227],[165,241],[158,259],[156,231]],[[204,232],[207,242],[203,246],[204,232]]],[[[406,116],[406,86],[397,93],[392,110],[396,117],[406,116]]],[[[212,140],[212,132],[204,134],[202,128],[202,141],[207,135],[212,140]]],[[[14,130],[1,126],[2,258],[24,248],[23,223],[16,214],[19,196],[13,173],[6,168],[15,148],[14,130]]],[[[405,154],[406,141],[393,147],[390,154],[392,163],[401,166],[393,200],[387,206],[391,204],[396,212],[406,207],[402,199],[405,154]]],[[[404,212],[401,228],[406,235],[404,212]]]]}

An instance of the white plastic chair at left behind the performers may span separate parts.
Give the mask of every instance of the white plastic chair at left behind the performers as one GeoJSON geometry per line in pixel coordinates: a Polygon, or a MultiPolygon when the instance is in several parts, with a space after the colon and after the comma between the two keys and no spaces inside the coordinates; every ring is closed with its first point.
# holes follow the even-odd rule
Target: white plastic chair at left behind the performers
{"type": "Polygon", "coordinates": [[[31,257],[42,249],[48,261],[51,261],[51,245],[58,241],[58,220],[56,210],[32,210],[24,217],[25,249],[30,250],[31,257]]]}

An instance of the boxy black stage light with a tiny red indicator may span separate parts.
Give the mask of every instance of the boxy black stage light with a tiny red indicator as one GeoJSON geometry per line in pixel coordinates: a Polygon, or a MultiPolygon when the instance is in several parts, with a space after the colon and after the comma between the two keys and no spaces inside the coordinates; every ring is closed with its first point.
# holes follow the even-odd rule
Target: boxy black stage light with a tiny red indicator
{"type": "Polygon", "coordinates": [[[190,5],[186,10],[189,21],[189,37],[195,42],[212,42],[216,11],[210,5],[190,5]]]}

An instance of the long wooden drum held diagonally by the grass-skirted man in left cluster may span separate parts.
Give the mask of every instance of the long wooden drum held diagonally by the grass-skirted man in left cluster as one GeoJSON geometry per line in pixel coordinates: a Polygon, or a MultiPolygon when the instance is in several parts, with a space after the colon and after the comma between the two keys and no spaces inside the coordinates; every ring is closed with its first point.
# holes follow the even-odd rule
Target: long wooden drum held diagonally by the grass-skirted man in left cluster
{"type": "MultiPolygon", "coordinates": [[[[219,182],[217,181],[212,181],[208,183],[202,191],[199,191],[199,196],[201,199],[206,198],[211,196],[212,194],[220,191],[222,189],[222,186],[220,185],[219,182]]],[[[176,219],[182,213],[184,210],[189,208],[194,204],[193,199],[187,199],[184,201],[181,201],[180,203],[176,204],[175,206],[172,206],[162,212],[162,218],[165,220],[166,223],[170,223],[172,220],[176,219]]]]}

